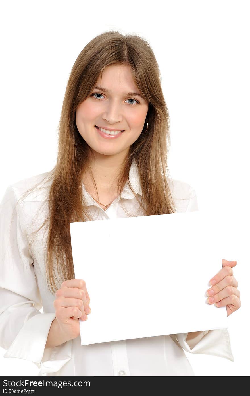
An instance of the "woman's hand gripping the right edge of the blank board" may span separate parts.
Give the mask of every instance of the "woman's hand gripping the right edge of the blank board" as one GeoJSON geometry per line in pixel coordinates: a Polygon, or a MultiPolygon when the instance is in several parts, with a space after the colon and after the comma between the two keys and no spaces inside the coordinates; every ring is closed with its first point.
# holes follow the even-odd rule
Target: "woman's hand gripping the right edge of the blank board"
{"type": "Polygon", "coordinates": [[[207,290],[206,295],[209,297],[206,301],[208,304],[215,304],[216,307],[227,307],[227,316],[241,307],[238,290],[238,282],[233,277],[233,270],[237,261],[228,261],[222,259],[222,269],[213,278],[210,279],[210,285],[213,286],[207,290]]]}

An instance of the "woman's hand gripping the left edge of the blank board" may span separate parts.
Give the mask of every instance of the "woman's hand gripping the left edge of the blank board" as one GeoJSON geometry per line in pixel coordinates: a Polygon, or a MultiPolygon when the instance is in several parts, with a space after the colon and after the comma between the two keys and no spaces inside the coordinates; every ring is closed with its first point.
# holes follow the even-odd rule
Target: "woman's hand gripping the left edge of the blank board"
{"type": "Polygon", "coordinates": [[[53,303],[55,316],[59,327],[68,339],[78,337],[81,320],[87,320],[90,313],[90,297],[83,279],[65,280],[61,289],[55,293],[57,297],[53,303]],[[89,308],[89,311],[88,311],[89,308]]]}

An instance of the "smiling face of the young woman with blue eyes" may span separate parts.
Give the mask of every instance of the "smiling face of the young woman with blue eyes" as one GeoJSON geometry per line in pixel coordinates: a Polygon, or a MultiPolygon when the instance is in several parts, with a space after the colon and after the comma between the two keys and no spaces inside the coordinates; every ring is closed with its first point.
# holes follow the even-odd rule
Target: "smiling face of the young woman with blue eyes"
{"type": "Polygon", "coordinates": [[[127,65],[106,67],[102,80],[99,77],[96,86],[100,88],[94,88],[76,110],[78,131],[97,155],[126,154],[142,132],[148,101],[131,94],[141,92],[134,84],[127,65]],[[107,137],[96,126],[124,132],[107,137]]]}

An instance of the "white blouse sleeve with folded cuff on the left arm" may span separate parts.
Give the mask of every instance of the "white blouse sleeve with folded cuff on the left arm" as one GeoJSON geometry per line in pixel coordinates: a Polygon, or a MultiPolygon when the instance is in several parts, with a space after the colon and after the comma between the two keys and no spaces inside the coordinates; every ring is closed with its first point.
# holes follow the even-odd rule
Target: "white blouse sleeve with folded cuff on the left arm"
{"type": "Polygon", "coordinates": [[[38,375],[58,371],[71,359],[72,340],[54,348],[45,344],[55,313],[42,313],[42,300],[22,232],[17,199],[9,186],[0,203],[0,346],[4,357],[30,360],[38,375]]]}

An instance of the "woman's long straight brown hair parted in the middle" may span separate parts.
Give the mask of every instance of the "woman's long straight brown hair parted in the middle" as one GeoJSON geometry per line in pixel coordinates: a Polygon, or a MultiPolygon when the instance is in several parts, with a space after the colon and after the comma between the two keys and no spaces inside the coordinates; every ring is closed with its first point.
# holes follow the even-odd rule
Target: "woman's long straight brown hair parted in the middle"
{"type": "Polygon", "coordinates": [[[133,191],[128,175],[134,159],[144,197],[143,205],[140,202],[144,215],[176,213],[167,180],[169,113],[157,61],[144,38],[108,30],[93,38],[78,55],[68,78],[62,104],[57,163],[47,175],[50,183],[47,196],[49,214],[37,230],[47,224],[46,278],[51,293],[55,293],[64,280],[75,277],[70,223],[92,220],[82,194],[82,175],[89,167],[92,152],[77,129],[76,109],[91,94],[104,68],[113,64],[130,65],[134,82],[149,103],[146,116],[148,129],[129,148],[117,191],[121,192],[126,181],[133,191]]]}

